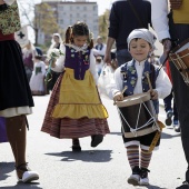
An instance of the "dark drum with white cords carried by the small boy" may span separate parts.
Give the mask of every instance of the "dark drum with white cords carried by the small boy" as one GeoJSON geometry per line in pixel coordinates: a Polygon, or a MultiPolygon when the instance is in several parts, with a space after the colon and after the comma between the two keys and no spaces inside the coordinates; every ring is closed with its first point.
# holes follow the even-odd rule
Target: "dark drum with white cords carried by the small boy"
{"type": "Polygon", "coordinates": [[[117,101],[118,112],[126,138],[133,138],[160,130],[150,93],[139,93],[125,97],[117,101]]]}

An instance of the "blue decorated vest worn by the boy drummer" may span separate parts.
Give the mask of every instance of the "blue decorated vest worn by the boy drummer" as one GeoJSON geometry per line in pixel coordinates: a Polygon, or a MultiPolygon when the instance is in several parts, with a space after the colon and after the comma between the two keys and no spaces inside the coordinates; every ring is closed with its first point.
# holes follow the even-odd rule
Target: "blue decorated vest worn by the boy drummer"
{"type": "MultiPolygon", "coordinates": [[[[121,66],[121,73],[123,78],[123,86],[122,88],[127,87],[127,90],[123,92],[123,96],[132,96],[133,94],[133,89],[137,83],[137,70],[135,67],[136,61],[131,60],[125,64],[121,66]]],[[[148,79],[147,79],[147,73],[149,73],[149,78],[151,81],[152,89],[156,89],[156,80],[158,77],[158,68],[155,67],[152,63],[150,63],[148,60],[145,62],[145,69],[142,72],[142,90],[143,92],[147,92],[149,88],[148,79]]],[[[159,103],[158,100],[153,100],[153,106],[156,109],[156,113],[159,112],[159,103]]]]}

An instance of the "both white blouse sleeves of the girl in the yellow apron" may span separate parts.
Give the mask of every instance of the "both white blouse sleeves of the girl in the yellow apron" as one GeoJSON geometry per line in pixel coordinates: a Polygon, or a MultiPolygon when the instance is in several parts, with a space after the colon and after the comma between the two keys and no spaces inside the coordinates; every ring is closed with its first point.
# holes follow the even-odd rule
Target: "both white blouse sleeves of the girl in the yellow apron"
{"type": "MultiPolygon", "coordinates": [[[[74,48],[72,46],[72,48],[74,48]]],[[[60,56],[59,59],[57,59],[56,61],[56,67],[51,68],[53,71],[56,72],[62,72],[63,69],[64,69],[64,58],[66,58],[66,46],[64,44],[61,44],[60,46],[60,50],[62,51],[62,53],[64,56],[60,56]]],[[[92,73],[93,76],[93,79],[96,81],[96,84],[98,83],[98,74],[97,74],[97,70],[96,70],[96,58],[93,56],[93,50],[91,49],[90,51],[90,57],[89,57],[89,61],[90,61],[90,67],[89,67],[89,70],[90,72],[92,73]]]]}

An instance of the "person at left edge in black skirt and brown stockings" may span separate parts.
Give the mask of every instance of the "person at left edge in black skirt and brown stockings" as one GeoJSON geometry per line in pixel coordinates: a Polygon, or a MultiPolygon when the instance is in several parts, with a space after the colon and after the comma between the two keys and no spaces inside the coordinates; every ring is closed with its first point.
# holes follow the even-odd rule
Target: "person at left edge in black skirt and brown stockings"
{"type": "MultiPolygon", "coordinates": [[[[16,0],[0,0],[0,16],[4,13],[4,18],[9,18],[6,10],[11,4],[16,7],[13,13],[18,13],[16,0]]],[[[0,26],[1,21],[6,19],[0,19],[0,26]]],[[[0,117],[6,118],[7,137],[16,160],[18,180],[30,182],[39,179],[39,175],[28,168],[26,159],[26,115],[32,112],[33,100],[27,81],[21,48],[14,40],[12,30],[12,33],[8,34],[3,34],[2,31],[0,29],[0,117]]]]}

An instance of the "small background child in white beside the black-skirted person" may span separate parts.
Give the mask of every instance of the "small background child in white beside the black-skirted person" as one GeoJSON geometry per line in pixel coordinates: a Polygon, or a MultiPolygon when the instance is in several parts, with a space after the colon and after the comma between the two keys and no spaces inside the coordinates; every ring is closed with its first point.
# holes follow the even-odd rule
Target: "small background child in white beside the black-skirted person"
{"type": "Polygon", "coordinates": [[[34,56],[34,68],[30,79],[30,89],[32,94],[44,94],[44,74],[46,63],[41,60],[42,56],[34,56]]]}

